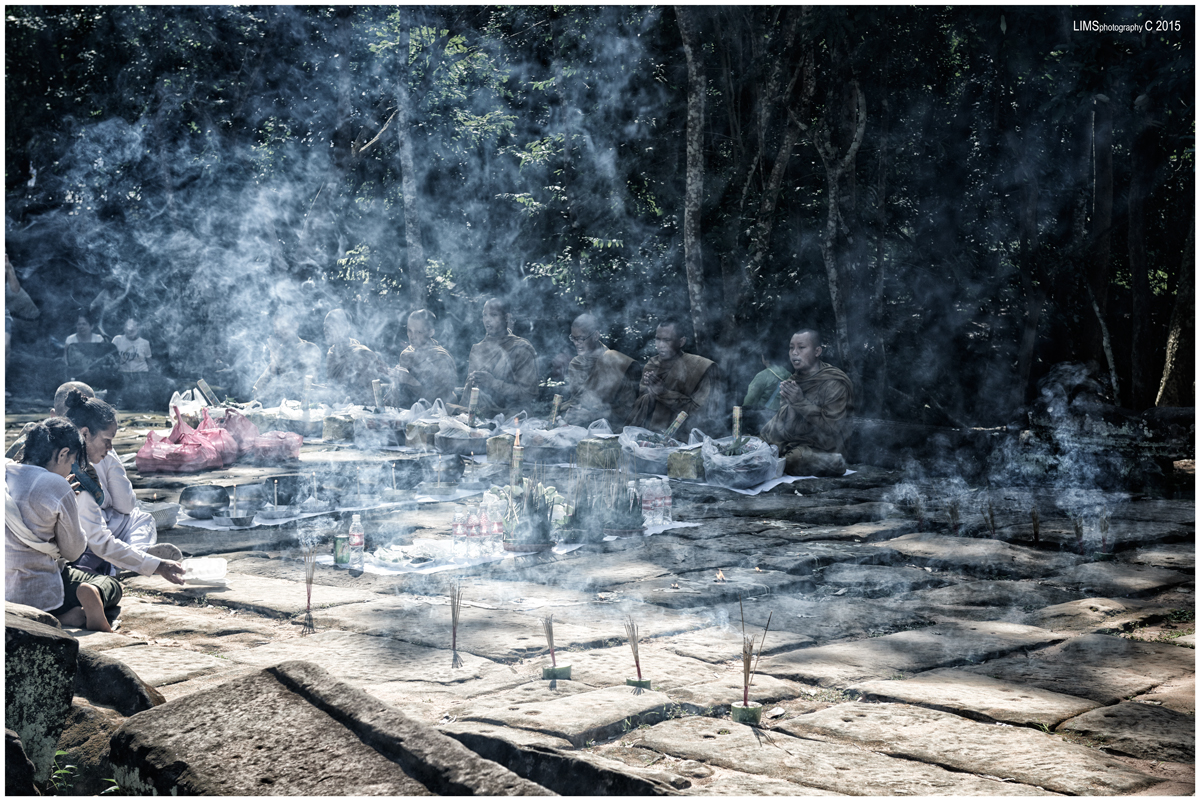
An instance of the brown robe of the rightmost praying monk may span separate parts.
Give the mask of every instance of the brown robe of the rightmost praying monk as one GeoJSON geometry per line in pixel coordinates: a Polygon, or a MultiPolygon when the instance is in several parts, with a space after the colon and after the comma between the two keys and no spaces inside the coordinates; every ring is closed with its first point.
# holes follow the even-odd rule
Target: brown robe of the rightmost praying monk
{"type": "Polygon", "coordinates": [[[762,427],[762,438],[779,445],[790,476],[840,476],[846,472],[841,456],[848,432],[846,412],[854,402],[850,377],[836,367],[820,362],[809,378],[793,374],[804,398],[799,403],[782,401],[775,416],[762,427]]]}

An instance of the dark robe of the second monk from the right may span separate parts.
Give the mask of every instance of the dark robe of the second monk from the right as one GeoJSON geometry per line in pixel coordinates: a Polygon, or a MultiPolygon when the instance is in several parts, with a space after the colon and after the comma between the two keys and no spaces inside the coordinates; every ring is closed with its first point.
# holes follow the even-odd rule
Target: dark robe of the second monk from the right
{"type": "Polygon", "coordinates": [[[721,409],[720,396],[720,369],[716,362],[695,354],[679,354],[670,366],[664,367],[662,360],[654,356],[642,369],[638,397],[625,423],[661,432],[680,411],[686,411],[688,420],[679,430],[680,435],[685,436],[692,428],[700,428],[706,434],[716,436],[724,430],[718,417],[721,409]],[[658,398],[650,395],[646,384],[646,375],[650,372],[661,375],[665,385],[658,398]]]}

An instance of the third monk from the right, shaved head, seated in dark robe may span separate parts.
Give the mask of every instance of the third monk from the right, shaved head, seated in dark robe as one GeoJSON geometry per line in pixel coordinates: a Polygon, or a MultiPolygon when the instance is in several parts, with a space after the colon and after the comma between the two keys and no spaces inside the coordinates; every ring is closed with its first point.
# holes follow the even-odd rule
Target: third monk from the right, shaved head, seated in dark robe
{"type": "Polygon", "coordinates": [[[568,401],[563,417],[571,426],[607,420],[613,428],[625,424],[637,399],[641,366],[623,353],[606,348],[600,323],[580,314],[571,324],[576,356],[566,368],[568,401]]]}

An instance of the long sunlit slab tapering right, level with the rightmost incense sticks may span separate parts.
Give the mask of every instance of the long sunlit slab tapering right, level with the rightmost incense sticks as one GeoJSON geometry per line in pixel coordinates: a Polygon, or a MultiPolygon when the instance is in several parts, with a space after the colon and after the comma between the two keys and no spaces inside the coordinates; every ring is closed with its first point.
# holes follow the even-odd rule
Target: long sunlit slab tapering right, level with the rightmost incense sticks
{"type": "Polygon", "coordinates": [[[1052,632],[1016,624],[946,622],[854,643],[776,654],[763,657],[758,670],[845,689],[874,679],[979,663],[1062,639],[1052,632]]]}

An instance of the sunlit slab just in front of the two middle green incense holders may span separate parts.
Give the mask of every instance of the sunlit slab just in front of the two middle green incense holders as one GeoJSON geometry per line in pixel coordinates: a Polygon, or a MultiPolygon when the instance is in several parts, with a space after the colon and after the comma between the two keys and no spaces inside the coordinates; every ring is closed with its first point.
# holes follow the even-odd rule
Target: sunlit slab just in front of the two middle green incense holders
{"type": "Polygon", "coordinates": [[[667,717],[670,710],[671,699],[664,693],[606,687],[568,698],[482,709],[460,719],[544,731],[582,747],[592,741],[618,736],[643,723],[658,723],[667,717]]]}

